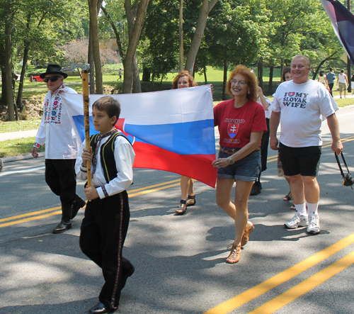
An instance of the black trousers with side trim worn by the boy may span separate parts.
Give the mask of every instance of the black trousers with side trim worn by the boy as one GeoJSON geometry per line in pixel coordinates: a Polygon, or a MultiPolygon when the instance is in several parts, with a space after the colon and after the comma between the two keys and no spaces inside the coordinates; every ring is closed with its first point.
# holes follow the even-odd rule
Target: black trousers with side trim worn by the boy
{"type": "Polygon", "coordinates": [[[118,307],[122,288],[120,280],[132,267],[122,257],[129,219],[127,191],[123,191],[88,202],[82,220],[80,247],[102,269],[105,284],[98,298],[109,308],[118,307]]]}

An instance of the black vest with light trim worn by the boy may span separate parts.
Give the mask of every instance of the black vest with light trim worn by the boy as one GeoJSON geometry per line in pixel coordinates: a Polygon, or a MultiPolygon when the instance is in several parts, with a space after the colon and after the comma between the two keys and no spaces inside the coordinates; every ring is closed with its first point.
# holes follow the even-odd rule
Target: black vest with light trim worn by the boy
{"type": "MultiPolygon", "coordinates": [[[[92,147],[93,154],[95,153],[96,150],[98,135],[99,134],[92,135],[90,138],[90,145],[92,147]]],[[[105,181],[107,181],[107,183],[109,183],[110,180],[117,177],[117,167],[115,165],[114,149],[115,149],[115,139],[118,136],[122,136],[123,138],[125,138],[125,136],[122,135],[121,133],[118,132],[113,133],[113,135],[110,135],[108,140],[101,145],[101,152],[100,152],[101,164],[102,164],[103,174],[105,175],[105,181]]],[[[127,138],[125,139],[129,142],[127,138]]],[[[100,165],[96,164],[96,168],[97,167],[100,167],[100,165]]]]}

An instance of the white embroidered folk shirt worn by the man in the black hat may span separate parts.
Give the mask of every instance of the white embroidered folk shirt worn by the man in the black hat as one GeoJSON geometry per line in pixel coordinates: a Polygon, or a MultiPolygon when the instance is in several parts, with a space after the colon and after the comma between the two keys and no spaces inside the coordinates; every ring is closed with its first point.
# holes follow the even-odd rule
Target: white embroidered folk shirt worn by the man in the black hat
{"type": "Polygon", "coordinates": [[[76,159],[78,142],[60,93],[77,94],[74,89],[62,86],[54,93],[48,91],[43,105],[40,128],[35,147],[45,143],[45,159],[76,159]]]}

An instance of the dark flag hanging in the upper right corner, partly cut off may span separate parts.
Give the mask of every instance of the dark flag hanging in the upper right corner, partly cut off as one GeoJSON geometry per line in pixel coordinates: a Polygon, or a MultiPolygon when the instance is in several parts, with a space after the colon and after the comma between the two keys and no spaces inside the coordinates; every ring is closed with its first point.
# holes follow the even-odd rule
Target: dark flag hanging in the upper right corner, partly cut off
{"type": "MultiPolygon", "coordinates": [[[[331,20],[334,33],[341,41],[350,62],[354,65],[354,15],[338,0],[321,0],[331,20]]],[[[349,73],[350,74],[350,73],[349,73]]]]}

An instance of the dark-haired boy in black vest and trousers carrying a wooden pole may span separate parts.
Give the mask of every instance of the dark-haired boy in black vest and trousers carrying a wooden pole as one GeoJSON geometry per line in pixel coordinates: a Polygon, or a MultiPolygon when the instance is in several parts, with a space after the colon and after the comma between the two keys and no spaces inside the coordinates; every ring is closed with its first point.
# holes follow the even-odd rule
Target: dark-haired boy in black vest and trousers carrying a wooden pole
{"type": "Polygon", "coordinates": [[[89,313],[113,313],[120,291],[134,272],[122,257],[130,219],[127,191],[132,184],[135,152],[128,140],[113,128],[120,115],[120,103],[105,96],[92,105],[92,120],[99,134],[91,136],[91,151],[81,145],[76,174],[87,179],[86,163],[91,162],[92,186],[84,190],[87,199],[81,225],[82,252],[102,268],[105,284],[99,303],[89,313]]]}

